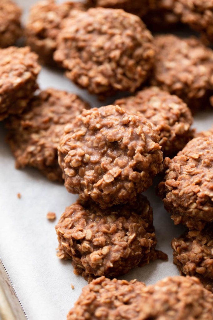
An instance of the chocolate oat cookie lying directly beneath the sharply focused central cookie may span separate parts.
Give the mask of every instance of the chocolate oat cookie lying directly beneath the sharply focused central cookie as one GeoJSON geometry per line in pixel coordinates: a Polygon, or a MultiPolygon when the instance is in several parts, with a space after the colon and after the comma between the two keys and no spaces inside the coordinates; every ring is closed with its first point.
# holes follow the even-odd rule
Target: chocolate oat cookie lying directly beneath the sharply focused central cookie
{"type": "Polygon", "coordinates": [[[167,255],[155,250],[153,212],[145,196],[132,204],[101,209],[78,200],[67,207],[56,226],[59,258],[71,259],[75,274],[91,281],[114,277],[167,255]]]}

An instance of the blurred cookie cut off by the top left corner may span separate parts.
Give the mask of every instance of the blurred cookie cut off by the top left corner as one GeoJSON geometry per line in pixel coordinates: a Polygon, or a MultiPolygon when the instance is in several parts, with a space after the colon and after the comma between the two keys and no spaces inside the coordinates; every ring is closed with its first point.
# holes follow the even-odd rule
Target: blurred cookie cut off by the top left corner
{"type": "Polygon", "coordinates": [[[22,35],[21,9],[10,0],[0,2],[0,47],[6,48],[16,43],[22,35]]]}

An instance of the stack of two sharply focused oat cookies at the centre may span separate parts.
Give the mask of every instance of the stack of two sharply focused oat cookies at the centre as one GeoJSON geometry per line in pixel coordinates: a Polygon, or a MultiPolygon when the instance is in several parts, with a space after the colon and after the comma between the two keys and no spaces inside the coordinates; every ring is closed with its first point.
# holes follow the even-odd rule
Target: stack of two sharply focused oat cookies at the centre
{"type": "Polygon", "coordinates": [[[56,231],[59,258],[87,280],[118,276],[166,255],[155,250],[153,212],[141,192],[160,171],[159,136],[145,118],[119,106],[83,110],[65,126],[59,164],[67,207],[56,231]]]}

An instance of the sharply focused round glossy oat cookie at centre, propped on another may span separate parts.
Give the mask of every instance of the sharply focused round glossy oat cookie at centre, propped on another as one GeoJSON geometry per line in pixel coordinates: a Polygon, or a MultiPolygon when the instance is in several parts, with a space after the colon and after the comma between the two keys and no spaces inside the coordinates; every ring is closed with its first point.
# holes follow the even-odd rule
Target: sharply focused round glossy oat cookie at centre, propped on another
{"type": "Polygon", "coordinates": [[[65,186],[101,207],[134,201],[160,171],[158,142],[145,118],[119,106],[83,110],[65,126],[58,148],[65,186]]]}

